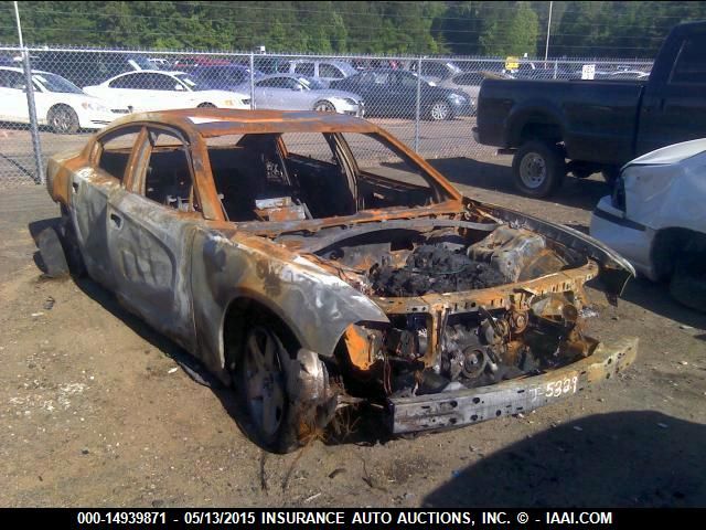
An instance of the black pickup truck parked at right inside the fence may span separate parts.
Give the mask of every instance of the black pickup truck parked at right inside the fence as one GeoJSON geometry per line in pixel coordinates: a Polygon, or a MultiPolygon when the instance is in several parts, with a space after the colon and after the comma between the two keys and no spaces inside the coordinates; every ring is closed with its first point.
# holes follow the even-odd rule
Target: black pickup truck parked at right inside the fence
{"type": "Polygon", "coordinates": [[[675,26],[646,82],[484,80],[473,135],[514,152],[515,184],[533,197],[567,172],[611,182],[637,156],[706,137],[706,22],[675,26]]]}

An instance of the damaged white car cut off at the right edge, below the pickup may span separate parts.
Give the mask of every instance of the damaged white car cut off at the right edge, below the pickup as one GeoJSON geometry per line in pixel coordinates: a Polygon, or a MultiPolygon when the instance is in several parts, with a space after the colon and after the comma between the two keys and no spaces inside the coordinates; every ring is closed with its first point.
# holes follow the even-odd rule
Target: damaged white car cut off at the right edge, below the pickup
{"type": "Polygon", "coordinates": [[[591,219],[591,235],[683,304],[706,310],[706,138],[627,163],[591,219]]]}

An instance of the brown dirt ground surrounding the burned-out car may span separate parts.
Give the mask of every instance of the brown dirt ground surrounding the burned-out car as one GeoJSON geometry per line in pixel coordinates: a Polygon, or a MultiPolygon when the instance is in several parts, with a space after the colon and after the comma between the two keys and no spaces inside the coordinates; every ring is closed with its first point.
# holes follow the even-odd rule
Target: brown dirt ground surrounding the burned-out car
{"type": "MultiPolygon", "coordinates": [[[[434,163],[471,197],[586,231],[608,192],[567,179],[549,201],[512,191],[507,158],[434,163]]],[[[31,236],[43,188],[0,194],[0,506],[706,506],[706,316],[633,280],[596,288],[591,335],[640,337],[618,379],[533,414],[414,439],[349,417],[299,453],[263,453],[229,391],[88,279],[45,280],[31,236]]]]}

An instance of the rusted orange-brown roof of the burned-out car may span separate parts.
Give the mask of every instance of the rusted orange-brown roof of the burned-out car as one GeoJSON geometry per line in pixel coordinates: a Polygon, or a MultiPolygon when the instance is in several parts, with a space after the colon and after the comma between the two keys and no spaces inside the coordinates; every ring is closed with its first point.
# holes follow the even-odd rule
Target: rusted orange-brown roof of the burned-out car
{"type": "Polygon", "coordinates": [[[370,121],[338,113],[182,108],[131,114],[114,121],[104,134],[137,123],[171,125],[203,138],[246,134],[379,131],[370,121]]]}

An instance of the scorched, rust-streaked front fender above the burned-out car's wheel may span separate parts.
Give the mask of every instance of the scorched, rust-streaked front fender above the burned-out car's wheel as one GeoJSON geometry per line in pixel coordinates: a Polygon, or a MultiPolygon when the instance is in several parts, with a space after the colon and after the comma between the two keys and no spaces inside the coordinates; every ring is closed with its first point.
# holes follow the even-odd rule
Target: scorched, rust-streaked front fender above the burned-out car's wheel
{"type": "Polygon", "coordinates": [[[268,307],[295,333],[302,348],[333,356],[345,328],[360,320],[387,322],[370,298],[320,266],[296,257],[268,240],[197,231],[192,253],[197,356],[214,370],[225,369],[224,316],[239,298],[268,307]]]}

